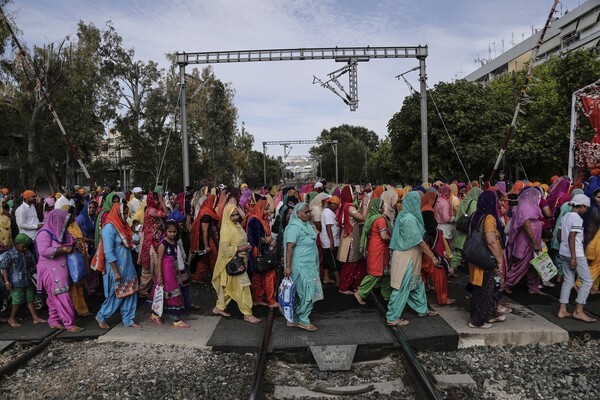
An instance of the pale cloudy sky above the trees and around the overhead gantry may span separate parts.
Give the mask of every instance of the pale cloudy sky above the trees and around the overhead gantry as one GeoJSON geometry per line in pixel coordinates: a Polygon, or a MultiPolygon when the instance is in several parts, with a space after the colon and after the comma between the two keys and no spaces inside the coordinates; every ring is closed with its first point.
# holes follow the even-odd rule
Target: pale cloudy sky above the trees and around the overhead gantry
{"type": "MultiPolygon", "coordinates": [[[[563,0],[557,15],[583,4],[563,0]]],[[[78,21],[99,28],[112,21],[123,46],[140,60],[166,67],[173,52],[427,45],[427,84],[460,79],[477,59],[494,58],[540,29],[552,0],[13,0],[6,7],[25,44],[43,46],[77,31],[78,21]]],[[[333,60],[212,64],[230,83],[239,121],[263,141],[312,140],[341,124],[364,126],[380,138],[410,94],[395,77],[416,59],[372,59],[358,65],[358,109],[313,84],[313,75],[341,68],[333,60]]],[[[193,66],[188,66],[191,70],[193,66]]],[[[197,67],[202,67],[197,66],[197,67]]],[[[418,71],[406,79],[419,87],[418,71]]],[[[340,83],[348,90],[347,74],[340,83]]],[[[58,110],[60,116],[60,110],[58,110]]],[[[297,145],[292,155],[308,154],[297,145]]],[[[283,154],[270,146],[268,154],[283,154]]]]}

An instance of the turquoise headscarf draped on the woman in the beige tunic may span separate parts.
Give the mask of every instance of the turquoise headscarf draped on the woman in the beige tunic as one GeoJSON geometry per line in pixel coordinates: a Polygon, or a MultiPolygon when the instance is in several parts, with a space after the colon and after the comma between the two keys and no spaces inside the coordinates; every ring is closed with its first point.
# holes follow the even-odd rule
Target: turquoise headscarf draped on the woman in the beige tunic
{"type": "Polygon", "coordinates": [[[417,246],[425,235],[425,224],[421,214],[421,196],[408,193],[402,202],[402,211],[396,218],[390,249],[407,251],[417,246]]]}

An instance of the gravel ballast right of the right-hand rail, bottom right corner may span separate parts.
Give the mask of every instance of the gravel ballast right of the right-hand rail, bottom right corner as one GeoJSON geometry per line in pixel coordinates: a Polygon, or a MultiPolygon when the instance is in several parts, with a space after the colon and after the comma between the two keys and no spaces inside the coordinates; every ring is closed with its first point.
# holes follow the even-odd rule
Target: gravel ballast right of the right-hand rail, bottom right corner
{"type": "Polygon", "coordinates": [[[418,358],[433,374],[469,374],[477,383],[476,389],[446,390],[448,399],[600,398],[598,340],[421,352],[418,358]]]}

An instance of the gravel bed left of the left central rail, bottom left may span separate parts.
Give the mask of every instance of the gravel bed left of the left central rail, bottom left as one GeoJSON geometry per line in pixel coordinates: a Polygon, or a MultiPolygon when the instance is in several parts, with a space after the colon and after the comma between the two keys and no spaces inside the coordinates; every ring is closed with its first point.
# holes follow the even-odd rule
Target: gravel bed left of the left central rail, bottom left
{"type": "Polygon", "coordinates": [[[129,343],[53,342],[0,380],[4,399],[245,399],[256,356],[129,343]]]}

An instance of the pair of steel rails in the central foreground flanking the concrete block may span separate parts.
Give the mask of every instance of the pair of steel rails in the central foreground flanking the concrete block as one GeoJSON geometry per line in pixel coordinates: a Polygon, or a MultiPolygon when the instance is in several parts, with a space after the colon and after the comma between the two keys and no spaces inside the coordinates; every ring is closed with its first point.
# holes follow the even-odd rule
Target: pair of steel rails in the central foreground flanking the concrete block
{"type": "MultiPolygon", "coordinates": [[[[385,317],[385,305],[383,300],[377,295],[373,295],[372,298],[379,309],[379,312],[385,317]]],[[[254,370],[252,379],[252,386],[250,389],[250,400],[261,400],[264,398],[264,373],[267,365],[269,342],[271,340],[271,331],[273,329],[273,321],[275,318],[275,311],[269,310],[269,314],[266,320],[265,331],[260,343],[258,351],[258,359],[254,370]]],[[[385,321],[385,318],[384,318],[385,321]]],[[[429,400],[442,400],[444,399],[442,393],[437,389],[434,383],[434,379],[421,365],[417,359],[412,348],[408,344],[408,341],[402,331],[397,327],[389,327],[392,330],[394,336],[400,344],[400,350],[402,352],[402,361],[404,369],[408,375],[412,378],[414,389],[419,399],[429,400]]]]}

